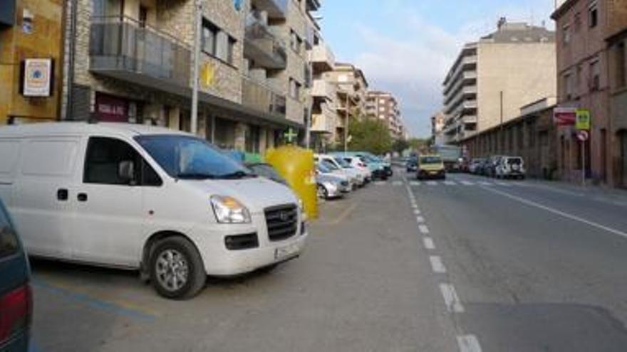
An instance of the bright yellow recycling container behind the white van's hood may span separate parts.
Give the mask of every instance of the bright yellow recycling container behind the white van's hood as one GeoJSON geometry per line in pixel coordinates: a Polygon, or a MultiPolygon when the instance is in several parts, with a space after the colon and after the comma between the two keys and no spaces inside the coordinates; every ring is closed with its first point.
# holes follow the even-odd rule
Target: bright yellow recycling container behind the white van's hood
{"type": "Polygon", "coordinates": [[[265,159],[286,179],[296,196],[301,198],[307,217],[318,218],[314,152],[297,146],[281,146],[266,151],[265,159]]]}

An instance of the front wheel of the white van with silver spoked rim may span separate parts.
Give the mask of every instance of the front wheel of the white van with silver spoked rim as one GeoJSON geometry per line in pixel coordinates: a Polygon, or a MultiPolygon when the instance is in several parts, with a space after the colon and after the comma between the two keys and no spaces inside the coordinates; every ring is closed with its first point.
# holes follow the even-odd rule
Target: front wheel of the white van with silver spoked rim
{"type": "Polygon", "coordinates": [[[185,238],[160,240],[150,256],[150,281],[157,293],[169,299],[194,297],[207,279],[196,247],[185,238]]]}

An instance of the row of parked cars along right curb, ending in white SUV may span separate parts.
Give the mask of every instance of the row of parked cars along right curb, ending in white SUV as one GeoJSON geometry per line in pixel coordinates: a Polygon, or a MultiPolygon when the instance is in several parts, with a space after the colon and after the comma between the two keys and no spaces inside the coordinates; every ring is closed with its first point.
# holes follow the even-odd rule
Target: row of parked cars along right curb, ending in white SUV
{"type": "Polygon", "coordinates": [[[489,158],[472,159],[468,165],[468,172],[495,178],[524,179],[527,176],[524,160],[520,156],[494,155],[489,158]]]}

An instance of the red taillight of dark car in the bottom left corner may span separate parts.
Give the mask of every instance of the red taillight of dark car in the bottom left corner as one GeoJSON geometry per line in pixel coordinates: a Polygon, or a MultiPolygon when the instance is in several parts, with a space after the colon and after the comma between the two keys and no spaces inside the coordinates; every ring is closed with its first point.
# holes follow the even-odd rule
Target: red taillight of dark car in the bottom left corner
{"type": "Polygon", "coordinates": [[[31,324],[33,294],[28,284],[0,297],[0,344],[31,324]]]}

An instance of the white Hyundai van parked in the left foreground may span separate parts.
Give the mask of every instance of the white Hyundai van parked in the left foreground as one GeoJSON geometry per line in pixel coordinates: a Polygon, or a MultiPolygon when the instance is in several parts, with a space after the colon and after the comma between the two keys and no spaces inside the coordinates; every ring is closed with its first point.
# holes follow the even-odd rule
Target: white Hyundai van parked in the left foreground
{"type": "Polygon", "coordinates": [[[192,134],[137,124],[0,127],[0,198],[29,255],[140,270],[164,297],[301,254],[299,199],[192,134]]]}

